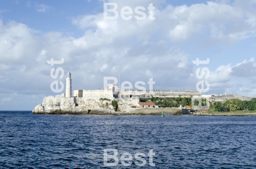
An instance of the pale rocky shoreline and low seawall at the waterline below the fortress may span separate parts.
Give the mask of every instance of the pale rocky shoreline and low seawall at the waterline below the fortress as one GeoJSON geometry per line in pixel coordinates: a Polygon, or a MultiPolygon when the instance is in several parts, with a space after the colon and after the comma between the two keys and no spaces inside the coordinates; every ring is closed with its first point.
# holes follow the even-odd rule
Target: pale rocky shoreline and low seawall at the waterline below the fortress
{"type": "Polygon", "coordinates": [[[190,113],[184,108],[134,108],[132,104],[119,102],[119,109],[108,99],[45,97],[43,103],[32,111],[35,115],[188,115],[188,116],[256,116],[256,112],[197,112],[190,113]]]}

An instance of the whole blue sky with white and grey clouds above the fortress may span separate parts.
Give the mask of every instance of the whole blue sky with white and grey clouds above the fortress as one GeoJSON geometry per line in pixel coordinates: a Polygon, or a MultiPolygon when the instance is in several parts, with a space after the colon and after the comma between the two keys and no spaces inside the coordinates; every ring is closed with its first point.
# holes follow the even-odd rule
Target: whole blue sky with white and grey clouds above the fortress
{"type": "Polygon", "coordinates": [[[170,90],[203,81],[205,95],[256,97],[255,59],[256,0],[0,0],[0,110],[33,110],[65,93],[68,72],[72,90],[103,89],[104,77],[120,74],[133,89],[149,89],[151,78],[153,89],[170,90]],[[119,17],[104,18],[104,3],[117,4],[119,17]]]}

